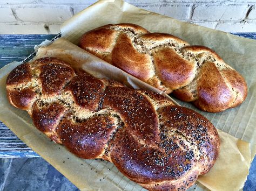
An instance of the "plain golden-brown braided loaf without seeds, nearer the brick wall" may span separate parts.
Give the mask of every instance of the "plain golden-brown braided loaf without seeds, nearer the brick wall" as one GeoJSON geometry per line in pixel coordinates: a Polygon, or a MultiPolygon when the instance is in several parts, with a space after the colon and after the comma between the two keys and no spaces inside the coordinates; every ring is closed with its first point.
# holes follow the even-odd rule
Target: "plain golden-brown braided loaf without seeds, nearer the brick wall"
{"type": "Polygon", "coordinates": [[[86,32],[79,46],[204,111],[236,107],[247,96],[244,78],[217,53],[171,34],[134,24],[106,25],[86,32]]]}

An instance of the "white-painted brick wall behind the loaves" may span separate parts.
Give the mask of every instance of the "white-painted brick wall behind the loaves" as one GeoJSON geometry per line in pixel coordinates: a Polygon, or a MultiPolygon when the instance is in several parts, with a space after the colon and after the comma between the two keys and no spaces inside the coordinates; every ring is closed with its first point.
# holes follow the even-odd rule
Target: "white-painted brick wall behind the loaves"
{"type": "MultiPolygon", "coordinates": [[[[0,0],[0,34],[56,34],[96,0],[0,0]]],[[[256,32],[256,0],[126,0],[143,9],[226,32],[256,32]]]]}

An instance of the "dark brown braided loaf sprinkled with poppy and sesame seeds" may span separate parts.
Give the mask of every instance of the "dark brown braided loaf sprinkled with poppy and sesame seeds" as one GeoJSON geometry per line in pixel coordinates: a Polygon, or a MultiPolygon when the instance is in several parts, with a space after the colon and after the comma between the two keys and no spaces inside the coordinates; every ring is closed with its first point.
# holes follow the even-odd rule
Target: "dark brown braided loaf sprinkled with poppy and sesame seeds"
{"type": "Polygon", "coordinates": [[[19,65],[6,88],[10,103],[53,141],[78,157],[113,162],[149,190],[185,190],[219,153],[217,130],[205,117],[55,58],[19,65]]]}

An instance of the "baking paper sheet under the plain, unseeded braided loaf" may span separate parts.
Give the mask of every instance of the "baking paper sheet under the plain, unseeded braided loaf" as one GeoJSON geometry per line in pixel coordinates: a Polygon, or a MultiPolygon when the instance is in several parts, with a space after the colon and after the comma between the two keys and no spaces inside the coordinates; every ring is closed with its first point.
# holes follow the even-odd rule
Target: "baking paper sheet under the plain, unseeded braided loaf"
{"type": "Polygon", "coordinates": [[[215,127],[251,143],[251,160],[256,153],[256,40],[208,29],[139,9],[121,0],[105,0],[89,6],[73,16],[62,27],[62,37],[77,44],[82,34],[106,24],[134,23],[150,32],[164,32],[186,40],[191,45],[212,48],[228,65],[245,77],[248,96],[239,106],[212,114],[198,110],[191,103],[176,100],[206,116],[215,127]]]}

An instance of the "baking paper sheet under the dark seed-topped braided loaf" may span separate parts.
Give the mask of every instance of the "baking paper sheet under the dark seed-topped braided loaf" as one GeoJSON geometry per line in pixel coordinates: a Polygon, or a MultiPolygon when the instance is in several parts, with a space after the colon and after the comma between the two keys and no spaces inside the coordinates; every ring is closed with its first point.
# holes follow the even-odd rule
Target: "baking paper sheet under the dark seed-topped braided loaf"
{"type": "MultiPolygon", "coordinates": [[[[39,48],[34,59],[44,56],[62,59],[71,63],[74,68],[82,68],[96,77],[115,79],[135,89],[151,89],[161,93],[156,88],[100,60],[96,56],[62,38],[57,39],[49,46],[39,48]]],[[[64,174],[79,189],[143,189],[137,183],[127,179],[110,162],[80,159],[67,151],[62,145],[51,142],[49,138],[33,126],[32,120],[26,111],[12,107],[6,99],[5,80],[9,72],[18,64],[19,62],[10,63],[1,69],[0,107],[4,109],[0,111],[0,120],[14,131],[24,143],[41,155],[60,173],[64,174]],[[12,119],[11,121],[10,118],[12,119]]],[[[230,136],[223,131],[219,131],[219,135],[221,138],[220,156],[211,171],[199,178],[200,186],[193,186],[197,190],[207,190],[206,187],[215,190],[227,190],[227,188],[230,190],[239,190],[242,188],[246,179],[250,167],[250,144],[230,136]],[[233,168],[234,166],[238,167],[233,168]],[[238,180],[234,181],[234,179],[238,180]]]]}

